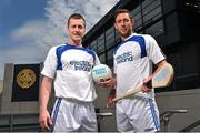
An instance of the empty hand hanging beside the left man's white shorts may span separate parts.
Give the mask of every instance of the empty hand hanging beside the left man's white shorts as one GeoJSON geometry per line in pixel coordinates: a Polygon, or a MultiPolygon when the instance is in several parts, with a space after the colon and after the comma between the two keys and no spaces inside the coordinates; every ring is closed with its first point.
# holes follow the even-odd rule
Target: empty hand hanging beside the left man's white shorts
{"type": "Polygon", "coordinates": [[[51,131],[51,125],[52,125],[52,120],[49,115],[49,112],[48,110],[42,110],[40,111],[40,116],[39,116],[39,124],[40,124],[40,127],[42,130],[49,130],[51,131]]]}

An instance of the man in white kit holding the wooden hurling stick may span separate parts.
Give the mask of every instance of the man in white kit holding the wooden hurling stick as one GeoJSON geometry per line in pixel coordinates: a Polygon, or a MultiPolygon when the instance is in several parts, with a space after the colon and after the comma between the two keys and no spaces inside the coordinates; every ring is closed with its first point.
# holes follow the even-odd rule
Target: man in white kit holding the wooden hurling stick
{"type": "MultiPolygon", "coordinates": [[[[116,103],[117,127],[119,132],[157,132],[160,130],[160,120],[154,91],[146,83],[152,78],[152,64],[159,69],[167,61],[151,35],[133,32],[133,23],[129,10],[116,11],[114,28],[121,37],[113,57],[116,78],[101,82],[100,85],[116,86],[117,95],[142,85],[142,92],[116,103]]],[[[108,102],[113,103],[112,100],[108,102]]]]}

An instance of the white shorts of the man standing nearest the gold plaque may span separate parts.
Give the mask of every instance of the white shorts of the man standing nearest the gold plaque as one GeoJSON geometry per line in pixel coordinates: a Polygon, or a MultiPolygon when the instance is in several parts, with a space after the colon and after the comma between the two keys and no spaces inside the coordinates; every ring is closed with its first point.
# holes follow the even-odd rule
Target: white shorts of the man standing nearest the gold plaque
{"type": "Polygon", "coordinates": [[[97,132],[97,116],[92,102],[57,99],[53,111],[53,132],[97,132]]]}

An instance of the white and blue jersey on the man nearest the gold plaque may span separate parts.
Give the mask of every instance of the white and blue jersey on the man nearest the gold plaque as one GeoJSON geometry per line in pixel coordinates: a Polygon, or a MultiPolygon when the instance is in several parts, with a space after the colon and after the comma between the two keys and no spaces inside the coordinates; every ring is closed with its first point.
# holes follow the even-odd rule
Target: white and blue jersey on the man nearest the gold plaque
{"type": "Polygon", "coordinates": [[[50,49],[41,73],[54,79],[57,98],[91,102],[97,98],[91,69],[99,63],[94,51],[60,44],[50,49]]]}

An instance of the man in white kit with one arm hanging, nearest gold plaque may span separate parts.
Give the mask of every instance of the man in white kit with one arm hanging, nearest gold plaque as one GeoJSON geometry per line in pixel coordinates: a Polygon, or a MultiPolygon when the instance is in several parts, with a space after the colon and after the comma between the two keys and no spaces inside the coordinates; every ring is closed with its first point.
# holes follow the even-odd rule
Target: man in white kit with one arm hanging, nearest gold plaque
{"type": "Polygon", "coordinates": [[[41,129],[50,130],[52,125],[53,132],[97,132],[91,69],[100,61],[94,51],[81,44],[86,32],[83,17],[71,14],[67,28],[68,42],[50,49],[41,71],[39,123],[41,129]],[[52,82],[57,101],[50,117],[47,106],[52,82]]]}

